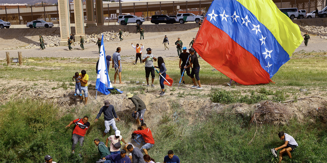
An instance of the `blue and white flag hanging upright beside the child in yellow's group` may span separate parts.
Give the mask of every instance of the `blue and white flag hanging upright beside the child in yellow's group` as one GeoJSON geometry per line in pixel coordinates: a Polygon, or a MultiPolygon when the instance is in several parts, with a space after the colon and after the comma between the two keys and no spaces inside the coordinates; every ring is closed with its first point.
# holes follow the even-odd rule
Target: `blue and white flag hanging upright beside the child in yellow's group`
{"type": "MultiPolygon", "coordinates": [[[[104,49],[104,45],[103,45],[103,35],[102,35],[102,39],[101,39],[100,59],[99,59],[99,64],[98,64],[96,89],[105,95],[108,95],[110,93],[109,90],[115,89],[112,87],[110,79],[109,79],[109,75],[108,75],[106,54],[105,54],[105,49],[104,49]]],[[[123,91],[120,91],[118,89],[116,89],[116,90],[120,93],[123,93],[123,91]]]]}

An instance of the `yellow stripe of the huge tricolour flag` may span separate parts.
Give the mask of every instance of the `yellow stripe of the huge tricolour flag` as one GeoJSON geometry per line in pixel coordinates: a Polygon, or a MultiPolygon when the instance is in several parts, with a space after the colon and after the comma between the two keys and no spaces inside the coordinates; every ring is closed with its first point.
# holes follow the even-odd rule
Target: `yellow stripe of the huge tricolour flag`
{"type": "Polygon", "coordinates": [[[236,0],[247,8],[275,36],[291,57],[303,38],[297,24],[282,13],[271,0],[236,0]]]}

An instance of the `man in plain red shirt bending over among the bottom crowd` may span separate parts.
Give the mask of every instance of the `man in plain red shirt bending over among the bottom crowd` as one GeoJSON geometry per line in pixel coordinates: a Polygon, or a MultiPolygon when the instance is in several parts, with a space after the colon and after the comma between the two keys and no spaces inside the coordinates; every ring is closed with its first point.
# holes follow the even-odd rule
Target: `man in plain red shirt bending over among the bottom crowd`
{"type": "Polygon", "coordinates": [[[143,149],[145,154],[148,154],[147,149],[153,147],[154,139],[152,137],[151,130],[149,128],[147,128],[147,125],[145,123],[142,123],[141,127],[142,127],[142,130],[133,131],[133,133],[142,135],[142,137],[143,137],[146,144],[144,146],[142,146],[141,149],[143,149]]]}

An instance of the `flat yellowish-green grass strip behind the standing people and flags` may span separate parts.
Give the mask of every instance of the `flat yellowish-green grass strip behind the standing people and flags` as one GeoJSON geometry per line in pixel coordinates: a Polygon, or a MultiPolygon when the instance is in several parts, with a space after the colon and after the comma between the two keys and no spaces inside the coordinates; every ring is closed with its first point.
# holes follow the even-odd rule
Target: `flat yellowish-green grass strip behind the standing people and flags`
{"type": "MultiPolygon", "coordinates": [[[[29,58],[35,62],[29,62],[28,68],[19,67],[0,67],[0,78],[5,79],[22,79],[28,81],[50,80],[54,82],[71,82],[75,72],[86,70],[90,80],[96,79],[95,66],[97,59],[80,59],[80,58],[29,58]],[[70,62],[67,62],[67,61],[70,62]],[[81,64],[82,63],[82,64],[81,64]]],[[[283,86],[299,86],[299,87],[323,87],[327,86],[327,65],[325,64],[327,57],[321,53],[311,53],[303,55],[295,53],[291,60],[283,65],[279,71],[271,78],[274,84],[265,86],[283,87],[283,86]],[[312,56],[312,57],[311,57],[312,56]]],[[[2,61],[5,63],[5,61],[2,61]]],[[[176,58],[165,58],[167,73],[174,79],[174,83],[178,84],[180,79],[180,70],[178,67],[179,60],[176,58]]],[[[201,65],[200,80],[204,85],[225,85],[229,78],[219,71],[212,71],[214,68],[202,59],[199,59],[201,65]]],[[[154,63],[157,65],[157,63],[154,63]]],[[[24,63],[27,65],[27,63],[24,63]]],[[[146,83],[145,70],[143,64],[136,66],[129,61],[124,61],[122,79],[130,81],[131,84],[141,85],[146,83]]],[[[110,65],[111,67],[111,65],[110,65]]],[[[159,84],[156,74],[155,84],[159,84]]],[[[113,80],[112,68],[109,69],[109,77],[113,80]]],[[[192,81],[185,76],[185,83],[191,84],[192,81]]]]}

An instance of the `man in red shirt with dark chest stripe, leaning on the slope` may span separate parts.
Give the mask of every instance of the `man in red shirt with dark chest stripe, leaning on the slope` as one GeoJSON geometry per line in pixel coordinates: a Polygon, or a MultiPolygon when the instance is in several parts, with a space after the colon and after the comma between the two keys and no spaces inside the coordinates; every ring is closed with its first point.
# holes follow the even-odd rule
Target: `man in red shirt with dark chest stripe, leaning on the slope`
{"type": "Polygon", "coordinates": [[[73,139],[72,154],[75,153],[75,146],[78,141],[80,142],[80,146],[83,146],[84,135],[85,135],[86,131],[88,130],[88,128],[90,127],[90,123],[87,121],[88,121],[88,117],[85,116],[83,119],[78,118],[74,121],[69,122],[69,124],[66,126],[66,127],[69,127],[73,123],[75,123],[75,129],[73,131],[73,137],[72,137],[72,139],[73,139]]]}

